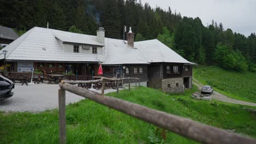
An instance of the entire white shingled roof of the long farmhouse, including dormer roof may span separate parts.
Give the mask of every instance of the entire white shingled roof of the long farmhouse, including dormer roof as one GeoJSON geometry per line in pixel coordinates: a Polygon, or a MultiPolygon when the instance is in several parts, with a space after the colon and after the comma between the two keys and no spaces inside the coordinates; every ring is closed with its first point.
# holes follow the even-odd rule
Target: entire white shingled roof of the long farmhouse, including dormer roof
{"type": "MultiPolygon", "coordinates": [[[[62,42],[88,45],[102,44],[96,36],[34,27],[13,43],[4,47],[9,61],[59,61],[59,62],[99,62],[103,64],[149,64],[154,62],[190,63],[159,40],[135,42],[135,49],[120,39],[105,38],[103,55],[65,52],[62,42]]],[[[0,59],[4,59],[2,51],[0,59]]]]}

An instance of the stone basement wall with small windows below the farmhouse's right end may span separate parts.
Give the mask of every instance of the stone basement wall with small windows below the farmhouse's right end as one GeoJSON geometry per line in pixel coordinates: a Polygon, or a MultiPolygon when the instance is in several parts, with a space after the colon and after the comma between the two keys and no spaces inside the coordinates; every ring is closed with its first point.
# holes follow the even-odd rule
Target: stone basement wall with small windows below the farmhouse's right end
{"type": "Polygon", "coordinates": [[[183,93],[183,77],[162,79],[162,91],[169,93],[183,93]]]}

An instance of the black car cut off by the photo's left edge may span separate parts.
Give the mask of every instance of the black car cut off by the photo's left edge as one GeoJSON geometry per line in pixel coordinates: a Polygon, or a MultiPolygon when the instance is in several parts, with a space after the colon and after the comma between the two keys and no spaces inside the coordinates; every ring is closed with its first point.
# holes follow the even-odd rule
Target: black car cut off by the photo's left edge
{"type": "Polygon", "coordinates": [[[13,96],[11,90],[14,88],[14,83],[6,77],[0,75],[0,100],[13,96]]]}

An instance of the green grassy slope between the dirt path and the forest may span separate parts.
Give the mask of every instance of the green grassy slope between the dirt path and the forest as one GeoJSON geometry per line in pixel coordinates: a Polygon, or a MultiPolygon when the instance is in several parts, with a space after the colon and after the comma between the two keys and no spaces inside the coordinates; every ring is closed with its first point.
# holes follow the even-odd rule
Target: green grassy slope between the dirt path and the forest
{"type": "Polygon", "coordinates": [[[198,67],[194,77],[204,85],[211,85],[228,97],[256,103],[256,73],[224,70],[219,67],[198,67]]]}

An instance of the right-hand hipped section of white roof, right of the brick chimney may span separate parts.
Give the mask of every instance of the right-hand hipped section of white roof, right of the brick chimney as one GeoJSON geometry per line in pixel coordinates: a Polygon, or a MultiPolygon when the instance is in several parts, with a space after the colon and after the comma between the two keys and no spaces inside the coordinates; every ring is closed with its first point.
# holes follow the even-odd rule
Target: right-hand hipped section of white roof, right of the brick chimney
{"type": "Polygon", "coordinates": [[[147,56],[150,63],[190,63],[157,39],[138,41],[135,43],[135,47],[140,49],[144,55],[147,56]]]}

